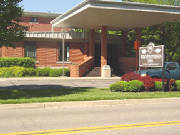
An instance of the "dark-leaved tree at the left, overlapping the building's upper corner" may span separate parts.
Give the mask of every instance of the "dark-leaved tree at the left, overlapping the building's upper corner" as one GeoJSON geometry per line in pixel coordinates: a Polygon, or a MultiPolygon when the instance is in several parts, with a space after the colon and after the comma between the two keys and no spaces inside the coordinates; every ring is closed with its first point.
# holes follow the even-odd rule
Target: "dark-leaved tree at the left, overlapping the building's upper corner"
{"type": "Polygon", "coordinates": [[[27,30],[21,26],[23,9],[18,5],[22,0],[0,0],[0,46],[12,46],[13,42],[21,41],[27,30]]]}

